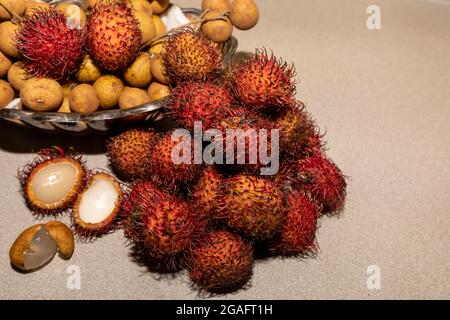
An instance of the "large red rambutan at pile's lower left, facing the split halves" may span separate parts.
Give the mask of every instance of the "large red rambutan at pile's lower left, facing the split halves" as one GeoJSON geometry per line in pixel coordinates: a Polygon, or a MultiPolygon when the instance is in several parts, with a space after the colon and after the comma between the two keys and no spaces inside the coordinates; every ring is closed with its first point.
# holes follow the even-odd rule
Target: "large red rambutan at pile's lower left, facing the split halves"
{"type": "Polygon", "coordinates": [[[150,182],[135,183],[122,200],[125,235],[144,253],[167,262],[190,252],[200,230],[192,207],[150,182]]]}

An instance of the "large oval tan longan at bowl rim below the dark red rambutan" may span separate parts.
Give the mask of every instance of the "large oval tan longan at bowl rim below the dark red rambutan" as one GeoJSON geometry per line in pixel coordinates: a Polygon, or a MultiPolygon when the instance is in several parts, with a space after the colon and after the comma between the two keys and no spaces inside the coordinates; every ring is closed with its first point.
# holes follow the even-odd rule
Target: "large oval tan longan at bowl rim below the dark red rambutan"
{"type": "Polygon", "coordinates": [[[20,90],[20,99],[25,107],[33,111],[54,111],[64,98],[58,81],[47,78],[31,78],[20,90]]]}

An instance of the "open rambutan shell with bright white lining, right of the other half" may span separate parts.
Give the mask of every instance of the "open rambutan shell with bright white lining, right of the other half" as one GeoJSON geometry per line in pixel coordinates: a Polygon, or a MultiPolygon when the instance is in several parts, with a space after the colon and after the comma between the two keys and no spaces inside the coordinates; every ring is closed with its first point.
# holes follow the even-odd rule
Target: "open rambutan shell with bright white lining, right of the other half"
{"type": "Polygon", "coordinates": [[[83,237],[105,234],[117,225],[122,188],[107,173],[95,173],[78,196],[73,208],[76,231],[83,237]]]}

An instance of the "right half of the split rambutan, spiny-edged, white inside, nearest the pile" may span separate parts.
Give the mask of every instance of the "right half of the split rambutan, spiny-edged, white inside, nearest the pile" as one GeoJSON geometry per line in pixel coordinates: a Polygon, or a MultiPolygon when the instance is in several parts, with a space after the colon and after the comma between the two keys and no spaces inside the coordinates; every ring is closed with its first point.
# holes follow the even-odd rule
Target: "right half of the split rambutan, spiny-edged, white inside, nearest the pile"
{"type": "Polygon", "coordinates": [[[120,227],[120,221],[122,220],[120,203],[122,199],[122,186],[110,173],[104,170],[90,171],[87,175],[86,186],[84,190],[78,195],[73,209],[72,209],[72,225],[74,233],[82,240],[92,241],[106,234],[112,233],[120,227]],[[103,189],[100,194],[99,182],[103,181],[103,185],[100,187],[103,189]],[[111,193],[111,189],[107,190],[104,183],[108,183],[112,189],[114,189],[116,195],[111,193]],[[87,209],[83,201],[86,200],[88,192],[97,192],[96,195],[90,195],[90,199],[93,201],[93,207],[97,208],[87,209]],[[109,194],[108,194],[109,193],[109,194]],[[114,199],[108,199],[113,197],[114,199]],[[110,201],[110,203],[108,203],[110,201]],[[100,202],[100,204],[99,204],[100,202]],[[87,213],[86,210],[106,210],[107,206],[112,206],[109,209],[109,213],[104,215],[103,219],[99,220],[98,217],[93,217],[92,213],[87,213]],[[83,211],[83,212],[82,212],[83,211]],[[86,221],[91,220],[91,221],[86,221]],[[94,221],[95,220],[95,221],[94,221]]]}

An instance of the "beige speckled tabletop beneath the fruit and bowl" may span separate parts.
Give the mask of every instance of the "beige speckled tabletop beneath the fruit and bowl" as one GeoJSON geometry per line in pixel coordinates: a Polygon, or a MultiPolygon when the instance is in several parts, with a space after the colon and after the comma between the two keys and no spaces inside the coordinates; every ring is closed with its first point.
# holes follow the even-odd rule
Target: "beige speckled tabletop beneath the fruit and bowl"
{"type": "MultiPolygon", "coordinates": [[[[366,28],[372,1],[259,3],[260,24],[235,33],[240,49],[266,46],[296,64],[298,97],[351,180],[344,216],[320,221],[318,259],[258,261],[252,287],[229,298],[450,298],[450,1],[378,0],[380,31],[366,28]],[[367,289],[370,265],[381,268],[379,291],[367,289]]],[[[107,163],[101,138],[0,123],[0,297],[198,298],[185,274],[158,276],[133,263],[120,232],[79,244],[72,260],[56,258],[40,272],[11,269],[10,244],[35,223],[17,166],[54,144],[86,152],[89,166],[107,163]],[[81,290],[66,287],[70,265],[80,267],[81,290]]]]}

